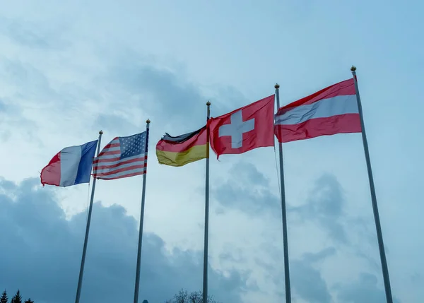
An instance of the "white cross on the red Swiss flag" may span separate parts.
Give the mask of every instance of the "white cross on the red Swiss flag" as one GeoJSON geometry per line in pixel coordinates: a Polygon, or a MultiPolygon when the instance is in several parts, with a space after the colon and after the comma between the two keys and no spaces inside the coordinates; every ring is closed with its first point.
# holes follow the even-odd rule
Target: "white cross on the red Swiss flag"
{"type": "Polygon", "coordinates": [[[230,136],[231,148],[241,148],[243,145],[243,133],[254,130],[254,119],[243,121],[242,111],[235,112],[230,117],[231,124],[219,127],[218,136],[230,136]]]}

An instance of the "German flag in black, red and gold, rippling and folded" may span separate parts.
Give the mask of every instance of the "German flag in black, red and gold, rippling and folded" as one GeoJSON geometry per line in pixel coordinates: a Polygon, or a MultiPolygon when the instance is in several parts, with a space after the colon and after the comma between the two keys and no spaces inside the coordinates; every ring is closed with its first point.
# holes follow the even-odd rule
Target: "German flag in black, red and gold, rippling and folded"
{"type": "Polygon", "coordinates": [[[207,158],[206,140],[206,126],[177,137],[165,133],[156,144],[156,156],[160,164],[183,166],[207,158]]]}

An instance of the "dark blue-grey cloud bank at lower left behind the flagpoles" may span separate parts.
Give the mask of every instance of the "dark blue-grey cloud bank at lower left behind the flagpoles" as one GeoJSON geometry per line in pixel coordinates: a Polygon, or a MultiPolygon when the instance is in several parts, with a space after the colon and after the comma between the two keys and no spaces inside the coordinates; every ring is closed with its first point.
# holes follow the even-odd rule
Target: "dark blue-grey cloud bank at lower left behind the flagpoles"
{"type": "MultiPolygon", "coordinates": [[[[71,302],[76,293],[86,213],[66,220],[54,192],[38,179],[0,181],[0,287],[18,288],[35,302],[71,302]]],[[[170,227],[171,228],[171,227],[170,227]]],[[[136,220],[122,206],[93,206],[81,302],[131,302],[136,220]]],[[[163,302],[179,289],[201,290],[201,251],[167,251],[156,234],[143,236],[140,298],[163,302]]],[[[209,268],[210,295],[242,302],[244,275],[209,268]]]]}

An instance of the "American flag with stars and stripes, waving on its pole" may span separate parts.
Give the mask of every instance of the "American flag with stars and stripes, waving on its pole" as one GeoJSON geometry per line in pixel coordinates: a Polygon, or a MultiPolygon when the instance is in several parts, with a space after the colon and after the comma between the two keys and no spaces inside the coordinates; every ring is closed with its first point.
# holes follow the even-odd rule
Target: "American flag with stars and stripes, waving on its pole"
{"type": "Polygon", "coordinates": [[[148,131],[114,138],[93,161],[93,177],[112,180],[145,174],[147,146],[148,131]]]}

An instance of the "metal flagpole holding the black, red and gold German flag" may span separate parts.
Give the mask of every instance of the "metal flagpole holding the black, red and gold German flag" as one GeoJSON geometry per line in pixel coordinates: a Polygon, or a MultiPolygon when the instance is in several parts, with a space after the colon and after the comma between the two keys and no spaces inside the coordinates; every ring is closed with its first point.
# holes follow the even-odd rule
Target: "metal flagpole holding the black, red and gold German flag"
{"type": "Polygon", "coordinates": [[[211,117],[211,102],[206,102],[208,107],[206,120],[206,184],[205,184],[205,235],[204,235],[204,285],[203,303],[208,302],[208,241],[209,241],[209,126],[211,117]]]}

